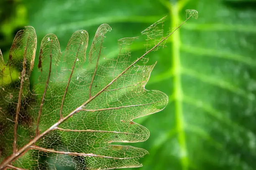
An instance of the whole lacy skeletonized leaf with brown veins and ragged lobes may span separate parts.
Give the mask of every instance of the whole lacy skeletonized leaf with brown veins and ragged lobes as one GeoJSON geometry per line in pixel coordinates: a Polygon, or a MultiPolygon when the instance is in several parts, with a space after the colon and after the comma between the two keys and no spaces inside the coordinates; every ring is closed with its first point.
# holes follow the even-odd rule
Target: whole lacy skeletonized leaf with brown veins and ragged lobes
{"type": "MultiPolygon", "coordinates": [[[[187,20],[192,16],[193,12],[187,20]]],[[[159,23],[161,20],[144,34],[152,38],[149,34],[159,23]]],[[[32,27],[18,32],[7,64],[3,60],[0,63],[0,169],[72,166],[103,170],[141,166],[138,160],[147,154],[146,150],[110,143],[145,141],[148,130],[133,119],[159,112],[167,105],[164,93],[144,88],[154,67],[146,65],[145,57],[173,32],[156,39],[151,49],[131,62],[129,45],[136,37],[118,41],[120,53],[116,58],[104,56],[103,40],[110,30],[109,25],[100,25],[89,60],[85,30],[74,32],[63,53],[57,37],[46,35],[39,53],[41,76],[34,89],[29,77],[36,33],[32,27]],[[99,62],[101,57],[105,62],[99,62]],[[144,65],[137,64],[140,60],[144,65]],[[85,61],[89,68],[83,67],[85,61]]]]}

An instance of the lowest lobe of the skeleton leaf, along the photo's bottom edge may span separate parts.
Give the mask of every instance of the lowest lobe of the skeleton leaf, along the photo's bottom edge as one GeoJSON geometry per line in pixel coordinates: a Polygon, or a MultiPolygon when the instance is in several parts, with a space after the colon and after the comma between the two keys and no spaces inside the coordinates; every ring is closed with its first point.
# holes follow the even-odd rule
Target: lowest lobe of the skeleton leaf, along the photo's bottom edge
{"type": "Polygon", "coordinates": [[[72,154],[50,153],[39,150],[29,150],[24,157],[31,158],[29,163],[26,160],[17,160],[15,166],[27,169],[31,166],[36,169],[55,170],[60,168],[72,168],[75,170],[109,170],[116,168],[133,168],[142,166],[138,163],[139,158],[148,154],[146,150],[131,146],[111,145],[101,150],[101,153],[111,152],[116,158],[100,158],[91,154],[90,156],[73,156],[72,154]],[[48,158],[42,160],[41,158],[48,158]],[[123,158],[123,159],[117,159],[123,158]],[[37,160],[41,160],[38,163],[37,160]],[[93,168],[92,168],[93,167],[93,168]]]}

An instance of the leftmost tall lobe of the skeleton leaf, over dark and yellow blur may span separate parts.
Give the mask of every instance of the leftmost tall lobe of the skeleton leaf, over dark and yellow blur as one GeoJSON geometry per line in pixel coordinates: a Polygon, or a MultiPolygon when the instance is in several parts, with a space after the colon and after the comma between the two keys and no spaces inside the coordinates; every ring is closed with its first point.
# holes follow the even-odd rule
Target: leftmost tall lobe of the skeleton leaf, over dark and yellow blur
{"type": "Polygon", "coordinates": [[[13,40],[7,64],[0,52],[0,161],[31,140],[33,116],[27,112],[34,96],[29,77],[36,52],[33,27],[20,30],[13,40]]]}

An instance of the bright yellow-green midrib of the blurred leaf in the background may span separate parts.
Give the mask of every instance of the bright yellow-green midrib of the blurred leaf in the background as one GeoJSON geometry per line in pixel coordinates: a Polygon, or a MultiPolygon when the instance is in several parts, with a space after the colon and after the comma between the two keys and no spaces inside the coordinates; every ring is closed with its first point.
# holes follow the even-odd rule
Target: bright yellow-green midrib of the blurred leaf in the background
{"type": "MultiPolygon", "coordinates": [[[[183,1],[180,1],[183,2],[183,1]]],[[[170,3],[171,5],[171,3],[170,3]]],[[[180,23],[179,18],[179,4],[172,4],[169,7],[169,13],[171,16],[171,28],[176,28],[176,25],[180,23]]],[[[187,170],[188,168],[188,157],[187,157],[187,144],[186,144],[186,135],[184,132],[184,118],[183,118],[183,110],[182,110],[182,82],[181,82],[181,74],[182,74],[182,65],[180,61],[180,34],[179,30],[172,35],[172,72],[173,72],[173,97],[174,97],[174,107],[175,107],[175,120],[176,120],[176,130],[178,133],[178,141],[180,147],[180,159],[182,164],[182,170],[187,170]]]]}

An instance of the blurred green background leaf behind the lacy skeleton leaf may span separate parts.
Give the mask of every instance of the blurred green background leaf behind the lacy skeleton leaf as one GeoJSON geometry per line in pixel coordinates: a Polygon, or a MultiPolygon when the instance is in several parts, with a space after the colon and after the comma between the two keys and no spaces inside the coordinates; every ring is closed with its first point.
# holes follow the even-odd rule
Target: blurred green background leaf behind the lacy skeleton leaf
{"type": "MultiPolygon", "coordinates": [[[[135,120],[151,132],[146,142],[131,144],[150,153],[138,169],[255,170],[254,0],[0,0],[0,48],[6,59],[26,25],[35,28],[38,49],[44,35],[55,33],[63,50],[74,31],[85,29],[92,40],[108,23],[105,47],[115,55],[118,39],[139,36],[166,15],[167,32],[186,19],[186,9],[197,10],[198,20],[149,56],[158,62],[146,88],[165,92],[169,104],[135,120]]],[[[134,58],[145,51],[142,42],[134,43],[134,58]]]]}

